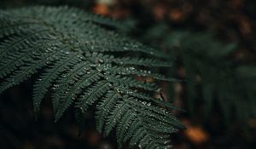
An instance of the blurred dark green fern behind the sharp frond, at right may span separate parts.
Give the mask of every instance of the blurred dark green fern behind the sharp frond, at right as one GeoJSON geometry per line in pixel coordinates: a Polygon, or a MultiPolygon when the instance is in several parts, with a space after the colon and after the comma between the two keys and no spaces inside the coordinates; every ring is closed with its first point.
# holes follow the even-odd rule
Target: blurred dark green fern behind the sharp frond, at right
{"type": "Polygon", "coordinates": [[[256,117],[256,66],[229,60],[236,45],[220,43],[212,33],[166,32],[170,32],[168,26],[155,26],[148,30],[144,39],[162,45],[182,61],[189,114],[195,116],[200,108],[207,118],[219,105],[226,123],[236,116],[247,127],[248,120],[256,117]],[[162,36],[164,34],[166,36],[162,36]]]}

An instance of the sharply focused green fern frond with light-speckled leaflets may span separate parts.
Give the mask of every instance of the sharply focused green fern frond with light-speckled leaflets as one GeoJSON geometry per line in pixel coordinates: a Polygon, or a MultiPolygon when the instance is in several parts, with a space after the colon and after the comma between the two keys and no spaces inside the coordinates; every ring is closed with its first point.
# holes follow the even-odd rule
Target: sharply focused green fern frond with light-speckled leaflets
{"type": "Polygon", "coordinates": [[[0,11],[0,93],[37,74],[35,112],[47,93],[56,121],[74,105],[82,123],[96,105],[96,128],[104,135],[117,128],[119,146],[130,140],[131,146],[169,147],[168,135],[183,128],[170,112],[174,107],[153,98],[156,82],[136,79],[172,80],[148,70],[168,66],[166,55],[108,29],[121,27],[66,7],[0,11]]]}

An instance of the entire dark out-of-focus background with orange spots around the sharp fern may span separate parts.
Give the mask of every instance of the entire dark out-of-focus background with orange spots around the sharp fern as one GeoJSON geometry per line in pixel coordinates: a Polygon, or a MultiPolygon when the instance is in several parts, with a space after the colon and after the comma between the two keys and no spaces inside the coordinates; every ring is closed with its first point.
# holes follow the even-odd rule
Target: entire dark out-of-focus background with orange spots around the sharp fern
{"type": "MultiPolygon", "coordinates": [[[[187,129],[173,149],[256,148],[256,2],[253,0],[1,0],[0,8],[68,5],[119,20],[121,33],[170,55],[162,83],[187,129]]],[[[148,78],[148,81],[150,78],[148,78]]],[[[32,83],[0,95],[0,148],[115,149],[96,132],[93,112],[79,127],[70,110],[54,123],[49,101],[35,120],[32,83]],[[83,129],[79,134],[79,129],[83,129]]],[[[125,146],[124,146],[125,147],[125,146]]]]}

